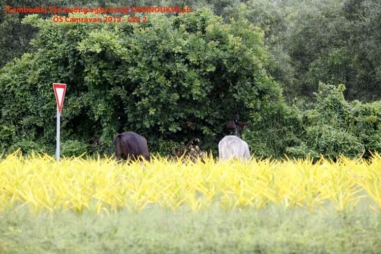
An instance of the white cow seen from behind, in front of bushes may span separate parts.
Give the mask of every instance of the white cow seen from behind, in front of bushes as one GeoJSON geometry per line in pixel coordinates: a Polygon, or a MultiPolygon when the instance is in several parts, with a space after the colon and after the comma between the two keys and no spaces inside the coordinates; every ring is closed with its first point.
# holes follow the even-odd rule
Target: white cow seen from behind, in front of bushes
{"type": "Polygon", "coordinates": [[[237,136],[225,136],[218,143],[218,154],[220,160],[229,158],[242,158],[246,161],[250,158],[249,146],[237,136]]]}

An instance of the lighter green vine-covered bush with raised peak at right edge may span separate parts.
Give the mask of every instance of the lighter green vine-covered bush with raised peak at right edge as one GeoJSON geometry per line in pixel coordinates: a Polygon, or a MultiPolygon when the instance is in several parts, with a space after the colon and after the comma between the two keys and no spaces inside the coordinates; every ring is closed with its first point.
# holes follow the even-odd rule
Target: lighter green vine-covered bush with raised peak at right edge
{"type": "Polygon", "coordinates": [[[319,85],[314,108],[304,114],[307,153],[368,157],[381,148],[381,104],[347,102],[344,90],[344,85],[319,85]]]}

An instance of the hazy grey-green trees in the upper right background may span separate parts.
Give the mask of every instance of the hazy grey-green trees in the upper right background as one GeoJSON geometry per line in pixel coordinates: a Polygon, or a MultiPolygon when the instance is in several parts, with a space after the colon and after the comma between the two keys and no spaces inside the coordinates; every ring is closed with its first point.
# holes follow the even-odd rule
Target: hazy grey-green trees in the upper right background
{"type": "Polygon", "coordinates": [[[232,1],[224,10],[226,20],[244,15],[264,29],[267,70],[290,101],[311,98],[319,82],[345,84],[346,99],[381,98],[378,0],[232,1]]]}

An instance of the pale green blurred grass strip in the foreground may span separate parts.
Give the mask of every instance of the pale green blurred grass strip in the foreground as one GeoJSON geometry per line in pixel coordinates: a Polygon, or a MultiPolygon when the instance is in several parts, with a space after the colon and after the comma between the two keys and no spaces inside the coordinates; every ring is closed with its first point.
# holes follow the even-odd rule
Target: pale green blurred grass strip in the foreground
{"type": "Polygon", "coordinates": [[[0,253],[379,253],[381,216],[262,210],[0,214],[0,253]]]}

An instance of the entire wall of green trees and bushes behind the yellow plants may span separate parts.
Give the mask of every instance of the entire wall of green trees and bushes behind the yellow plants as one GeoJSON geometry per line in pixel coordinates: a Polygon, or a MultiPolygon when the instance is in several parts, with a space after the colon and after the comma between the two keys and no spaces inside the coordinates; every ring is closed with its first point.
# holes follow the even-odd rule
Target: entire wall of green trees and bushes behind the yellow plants
{"type": "MultiPolygon", "coordinates": [[[[73,6],[72,1],[5,1],[73,6]]],[[[62,152],[112,152],[115,133],[171,154],[214,152],[239,113],[260,156],[381,150],[381,3],[376,0],[77,1],[190,5],[139,24],[53,24],[0,12],[0,148],[54,152],[51,84],[69,85],[62,152]],[[204,9],[205,8],[205,9],[204,9]],[[218,17],[219,16],[219,17],[218,17]],[[341,85],[340,85],[341,84],[341,85]]]]}

